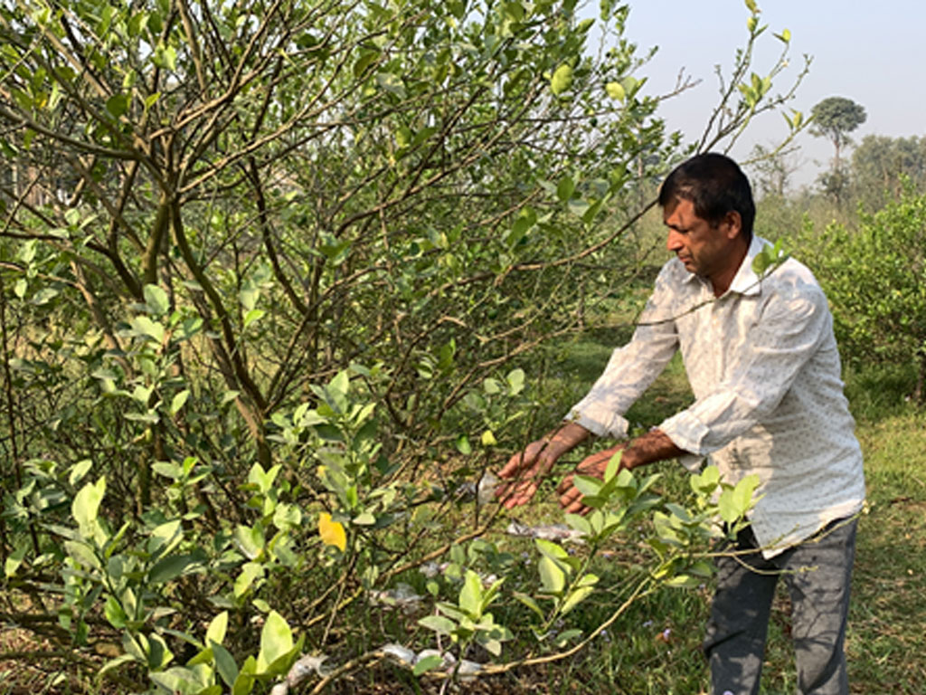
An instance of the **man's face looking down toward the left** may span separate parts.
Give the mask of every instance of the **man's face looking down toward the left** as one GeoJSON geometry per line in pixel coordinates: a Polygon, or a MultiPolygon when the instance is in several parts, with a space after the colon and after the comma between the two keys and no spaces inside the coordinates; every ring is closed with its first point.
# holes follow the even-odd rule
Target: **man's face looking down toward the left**
{"type": "Polygon", "coordinates": [[[675,253],[685,269],[715,281],[741,261],[733,250],[740,232],[739,215],[730,213],[717,225],[694,214],[694,203],[676,198],[673,206],[663,210],[662,219],[669,227],[666,247],[675,253]]]}

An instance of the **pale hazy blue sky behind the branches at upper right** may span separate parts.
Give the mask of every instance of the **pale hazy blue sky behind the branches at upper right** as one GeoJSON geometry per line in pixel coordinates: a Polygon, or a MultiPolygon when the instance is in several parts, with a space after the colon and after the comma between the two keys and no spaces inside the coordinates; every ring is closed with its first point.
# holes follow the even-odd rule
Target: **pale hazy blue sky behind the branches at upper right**
{"type": "MultiPolygon", "coordinates": [[[[792,107],[809,115],[821,99],[845,96],[868,113],[868,120],[851,133],[857,142],[869,133],[926,136],[926,2],[757,0],[757,5],[761,22],[769,25],[759,38],[759,74],[770,68],[782,46],[771,34],[791,32],[791,63],[776,82],[780,89],[773,85],[773,92],[783,92],[785,83],[793,81],[804,54],[813,57],[792,107]]],[[[648,93],[669,92],[682,68],[702,79],[661,110],[669,129],[682,130],[686,142],[694,140],[703,132],[718,96],[714,66],[720,64],[729,74],[736,48],[745,45],[745,2],[630,0],[630,6],[625,37],[638,45],[640,55],[659,47],[638,73],[649,78],[648,93]]],[[[755,143],[770,145],[786,132],[781,115],[767,114],[749,126],[732,155],[745,158],[755,143]]],[[[832,144],[809,133],[798,136],[796,143],[801,149],[792,157],[802,167],[794,183],[812,183],[828,166],[832,144]]]]}

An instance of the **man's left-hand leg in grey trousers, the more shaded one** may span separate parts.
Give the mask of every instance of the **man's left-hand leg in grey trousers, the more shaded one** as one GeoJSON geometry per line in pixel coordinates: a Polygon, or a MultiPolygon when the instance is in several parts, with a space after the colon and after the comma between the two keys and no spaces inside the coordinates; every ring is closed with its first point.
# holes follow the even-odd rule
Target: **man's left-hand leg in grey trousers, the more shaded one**
{"type": "MultiPolygon", "coordinates": [[[[751,529],[729,550],[756,548],[751,529]]],[[[757,695],[771,600],[780,571],[759,553],[717,560],[717,591],[711,603],[704,652],[713,695],[757,695]]]]}

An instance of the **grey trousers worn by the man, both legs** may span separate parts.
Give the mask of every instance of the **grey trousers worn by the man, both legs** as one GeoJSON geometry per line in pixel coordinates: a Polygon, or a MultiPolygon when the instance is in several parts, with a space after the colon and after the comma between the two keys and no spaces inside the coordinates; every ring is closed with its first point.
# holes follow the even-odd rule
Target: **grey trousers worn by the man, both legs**
{"type": "MultiPolygon", "coordinates": [[[[848,695],[843,642],[857,522],[833,522],[769,560],[758,552],[718,559],[717,592],[704,642],[713,695],[757,695],[779,578],[791,594],[797,692],[848,695]]],[[[756,546],[752,529],[746,528],[733,548],[756,546]]]]}

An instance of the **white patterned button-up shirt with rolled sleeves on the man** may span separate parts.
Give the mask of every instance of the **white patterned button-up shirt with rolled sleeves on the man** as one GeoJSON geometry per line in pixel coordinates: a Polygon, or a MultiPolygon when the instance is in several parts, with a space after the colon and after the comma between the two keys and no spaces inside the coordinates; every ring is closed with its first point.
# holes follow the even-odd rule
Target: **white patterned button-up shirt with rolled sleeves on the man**
{"type": "Polygon", "coordinates": [[[865,478],[826,297],[795,259],[760,280],[752,262],[765,244],[753,238],[719,298],[669,260],[631,342],[614,351],[569,420],[627,436],[623,413],[681,350],[695,400],[658,429],[694,454],[682,457],[689,469],[707,456],[729,483],[758,474],[762,497],[750,521],[770,557],[858,512],[865,478]]]}

